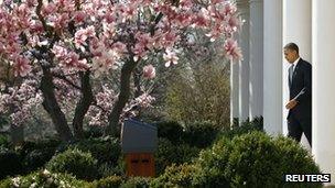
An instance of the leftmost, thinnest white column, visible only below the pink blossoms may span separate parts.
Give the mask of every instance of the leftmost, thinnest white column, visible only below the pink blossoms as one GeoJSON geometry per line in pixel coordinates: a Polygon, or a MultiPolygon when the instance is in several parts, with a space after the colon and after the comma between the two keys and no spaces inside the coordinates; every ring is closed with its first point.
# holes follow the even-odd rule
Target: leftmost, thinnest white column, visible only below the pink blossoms
{"type": "Polygon", "coordinates": [[[233,125],[234,120],[238,119],[238,70],[239,64],[230,63],[230,124],[233,125]]]}

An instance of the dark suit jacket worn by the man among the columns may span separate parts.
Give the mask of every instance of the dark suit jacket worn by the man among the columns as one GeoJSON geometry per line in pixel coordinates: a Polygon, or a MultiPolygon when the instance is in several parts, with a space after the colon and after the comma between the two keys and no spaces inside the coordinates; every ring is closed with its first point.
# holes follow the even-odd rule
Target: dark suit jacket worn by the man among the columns
{"type": "Polygon", "coordinates": [[[312,119],[312,65],[302,58],[298,62],[292,81],[290,81],[290,100],[295,99],[298,104],[289,111],[289,115],[294,115],[298,120],[312,119]]]}

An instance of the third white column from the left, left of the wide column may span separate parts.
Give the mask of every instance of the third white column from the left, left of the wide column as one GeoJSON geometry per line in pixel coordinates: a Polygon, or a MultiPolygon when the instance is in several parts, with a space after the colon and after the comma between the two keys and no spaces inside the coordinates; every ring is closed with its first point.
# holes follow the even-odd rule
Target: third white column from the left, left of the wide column
{"type": "Polygon", "coordinates": [[[250,0],[249,118],[263,113],[263,0],[250,0]]]}

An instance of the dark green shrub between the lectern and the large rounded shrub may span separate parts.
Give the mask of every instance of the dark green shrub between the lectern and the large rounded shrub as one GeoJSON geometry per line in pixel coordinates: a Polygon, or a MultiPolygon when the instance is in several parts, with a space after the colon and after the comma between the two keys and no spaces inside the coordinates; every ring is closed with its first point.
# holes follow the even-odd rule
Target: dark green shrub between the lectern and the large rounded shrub
{"type": "Polygon", "coordinates": [[[199,148],[187,144],[174,145],[166,139],[159,139],[158,151],[155,152],[155,172],[162,174],[166,166],[192,162],[199,153],[199,148]]]}

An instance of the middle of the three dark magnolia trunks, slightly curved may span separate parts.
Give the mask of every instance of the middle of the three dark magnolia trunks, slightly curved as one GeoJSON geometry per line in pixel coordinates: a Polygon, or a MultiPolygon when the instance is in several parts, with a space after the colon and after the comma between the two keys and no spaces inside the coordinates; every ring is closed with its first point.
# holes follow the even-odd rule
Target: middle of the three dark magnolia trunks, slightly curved
{"type": "Polygon", "coordinates": [[[91,86],[89,82],[89,75],[90,71],[80,73],[82,98],[77,102],[75,117],[73,119],[74,135],[76,139],[84,137],[83,120],[94,100],[91,86]]]}

